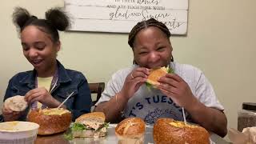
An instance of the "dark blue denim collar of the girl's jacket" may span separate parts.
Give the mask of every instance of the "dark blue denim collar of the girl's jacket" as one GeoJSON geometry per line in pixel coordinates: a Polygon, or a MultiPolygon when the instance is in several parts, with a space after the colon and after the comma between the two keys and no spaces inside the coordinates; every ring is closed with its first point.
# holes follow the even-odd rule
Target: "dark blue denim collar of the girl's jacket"
{"type": "MultiPolygon", "coordinates": [[[[60,83],[70,82],[71,81],[70,76],[67,74],[65,67],[62,66],[61,62],[58,62],[58,60],[57,60],[57,66],[58,66],[57,85],[59,85],[60,83]]],[[[34,89],[36,72],[37,72],[36,70],[27,71],[26,72],[27,75],[24,78],[22,78],[20,82],[23,84],[27,84],[27,86],[29,86],[31,89],[34,89]]]]}

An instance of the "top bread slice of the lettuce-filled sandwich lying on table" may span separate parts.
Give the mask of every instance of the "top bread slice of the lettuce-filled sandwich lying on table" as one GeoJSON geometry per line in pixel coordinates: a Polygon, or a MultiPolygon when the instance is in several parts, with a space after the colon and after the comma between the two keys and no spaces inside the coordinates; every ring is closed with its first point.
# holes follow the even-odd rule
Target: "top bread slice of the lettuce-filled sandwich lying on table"
{"type": "Polygon", "coordinates": [[[82,122],[86,120],[87,118],[98,118],[102,122],[105,122],[105,114],[102,112],[92,112],[92,113],[87,113],[87,114],[82,114],[80,117],[75,119],[75,122],[82,122]]]}

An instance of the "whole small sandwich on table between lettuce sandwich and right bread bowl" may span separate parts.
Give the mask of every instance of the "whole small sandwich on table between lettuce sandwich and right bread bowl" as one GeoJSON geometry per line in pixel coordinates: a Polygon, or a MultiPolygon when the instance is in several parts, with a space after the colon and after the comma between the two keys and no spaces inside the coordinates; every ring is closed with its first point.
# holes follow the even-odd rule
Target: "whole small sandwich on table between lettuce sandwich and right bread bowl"
{"type": "Polygon", "coordinates": [[[126,118],[118,123],[115,134],[119,144],[144,143],[145,122],[141,118],[126,118]]]}

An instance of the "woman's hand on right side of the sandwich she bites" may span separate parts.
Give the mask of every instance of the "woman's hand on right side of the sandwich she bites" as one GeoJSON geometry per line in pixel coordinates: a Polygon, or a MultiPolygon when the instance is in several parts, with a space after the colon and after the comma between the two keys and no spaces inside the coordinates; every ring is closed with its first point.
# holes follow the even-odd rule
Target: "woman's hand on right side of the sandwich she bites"
{"type": "Polygon", "coordinates": [[[186,108],[195,102],[190,86],[177,74],[166,74],[159,78],[158,82],[160,82],[158,89],[167,97],[172,98],[178,106],[186,108]]]}

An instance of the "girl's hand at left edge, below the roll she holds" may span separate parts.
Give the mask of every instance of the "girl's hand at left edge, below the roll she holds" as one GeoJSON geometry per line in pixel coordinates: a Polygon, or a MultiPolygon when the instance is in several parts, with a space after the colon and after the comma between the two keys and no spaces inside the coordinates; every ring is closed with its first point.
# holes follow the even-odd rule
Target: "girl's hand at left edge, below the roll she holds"
{"type": "Polygon", "coordinates": [[[5,122],[16,121],[21,115],[21,111],[13,111],[5,105],[2,106],[2,116],[5,122]]]}

